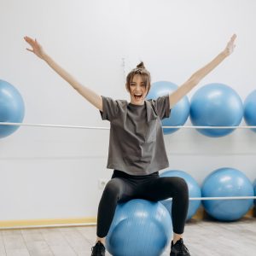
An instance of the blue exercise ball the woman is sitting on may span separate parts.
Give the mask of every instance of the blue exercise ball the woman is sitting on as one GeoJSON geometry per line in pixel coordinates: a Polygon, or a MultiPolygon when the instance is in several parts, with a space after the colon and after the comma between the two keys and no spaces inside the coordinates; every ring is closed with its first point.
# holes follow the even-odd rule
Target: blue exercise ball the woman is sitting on
{"type": "Polygon", "coordinates": [[[106,247],[114,256],[159,256],[171,235],[166,208],[160,202],[135,199],[116,208],[106,247]]]}

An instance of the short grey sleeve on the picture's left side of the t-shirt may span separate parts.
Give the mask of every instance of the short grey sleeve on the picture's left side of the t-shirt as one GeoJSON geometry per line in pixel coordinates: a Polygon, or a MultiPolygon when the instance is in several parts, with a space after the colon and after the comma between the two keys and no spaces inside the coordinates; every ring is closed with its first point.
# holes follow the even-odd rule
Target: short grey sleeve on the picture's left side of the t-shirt
{"type": "Polygon", "coordinates": [[[112,98],[102,96],[102,120],[113,120],[119,114],[119,102],[112,98]]]}

